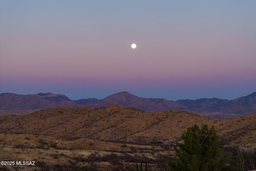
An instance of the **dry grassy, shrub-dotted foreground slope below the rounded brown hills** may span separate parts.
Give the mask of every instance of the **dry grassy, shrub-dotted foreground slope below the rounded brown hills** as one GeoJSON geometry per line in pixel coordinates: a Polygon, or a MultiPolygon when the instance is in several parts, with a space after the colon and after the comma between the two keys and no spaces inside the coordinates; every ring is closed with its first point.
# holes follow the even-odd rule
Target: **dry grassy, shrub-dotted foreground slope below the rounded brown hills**
{"type": "Polygon", "coordinates": [[[0,139],[2,161],[35,161],[35,166],[6,167],[10,170],[57,170],[56,166],[75,170],[111,170],[117,167],[116,164],[121,170],[133,170],[136,162],[141,161],[148,161],[149,168],[155,167],[154,170],[158,170],[156,162],[159,157],[173,156],[172,149],[155,145],[122,144],[92,139],[57,139],[31,134],[1,133],[0,139]]]}

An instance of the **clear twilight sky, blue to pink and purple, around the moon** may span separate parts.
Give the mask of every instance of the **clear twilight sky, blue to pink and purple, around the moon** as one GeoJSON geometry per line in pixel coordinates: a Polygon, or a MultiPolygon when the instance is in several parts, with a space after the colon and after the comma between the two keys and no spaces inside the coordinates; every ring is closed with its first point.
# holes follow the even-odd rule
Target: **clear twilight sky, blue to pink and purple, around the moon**
{"type": "Polygon", "coordinates": [[[256,91],[255,9],[255,0],[0,0],[0,93],[246,96],[256,91]]]}

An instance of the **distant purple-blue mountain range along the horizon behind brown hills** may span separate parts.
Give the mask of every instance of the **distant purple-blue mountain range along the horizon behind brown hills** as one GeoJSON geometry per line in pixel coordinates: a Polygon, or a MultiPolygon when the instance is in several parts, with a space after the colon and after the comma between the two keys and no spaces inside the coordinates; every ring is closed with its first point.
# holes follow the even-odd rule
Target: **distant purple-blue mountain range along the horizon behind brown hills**
{"type": "Polygon", "coordinates": [[[234,100],[202,98],[197,100],[185,99],[177,101],[160,98],[142,98],[128,92],[116,93],[104,99],[90,98],[80,100],[71,100],[65,95],[53,93],[29,95],[18,95],[14,93],[0,94],[1,115],[28,114],[38,109],[47,109],[57,106],[99,108],[112,104],[135,107],[146,112],[179,109],[211,118],[233,118],[256,112],[256,92],[234,100]]]}

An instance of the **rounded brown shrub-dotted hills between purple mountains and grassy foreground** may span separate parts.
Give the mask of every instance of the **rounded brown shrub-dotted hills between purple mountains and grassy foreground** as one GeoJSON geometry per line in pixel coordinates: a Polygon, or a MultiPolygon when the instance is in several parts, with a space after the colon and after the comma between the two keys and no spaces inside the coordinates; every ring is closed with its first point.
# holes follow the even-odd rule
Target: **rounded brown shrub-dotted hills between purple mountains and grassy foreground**
{"type": "Polygon", "coordinates": [[[256,143],[252,136],[256,133],[256,114],[234,119],[210,119],[187,111],[148,113],[118,105],[98,109],[55,107],[29,115],[8,115],[0,117],[0,130],[1,133],[148,144],[180,141],[187,127],[203,123],[214,125],[225,144],[256,143]],[[226,142],[227,139],[233,140],[226,142]]]}

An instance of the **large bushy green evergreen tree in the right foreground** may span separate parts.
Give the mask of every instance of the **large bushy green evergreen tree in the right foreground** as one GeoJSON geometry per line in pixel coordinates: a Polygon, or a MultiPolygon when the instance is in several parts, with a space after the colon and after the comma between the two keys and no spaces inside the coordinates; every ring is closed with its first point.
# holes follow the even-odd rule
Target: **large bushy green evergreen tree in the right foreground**
{"type": "Polygon", "coordinates": [[[226,169],[228,157],[224,157],[219,143],[220,136],[214,126],[208,125],[188,127],[182,133],[184,144],[174,146],[176,156],[174,161],[168,161],[173,171],[221,171],[226,169]]]}

